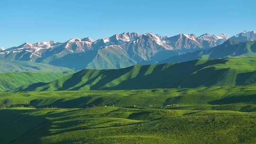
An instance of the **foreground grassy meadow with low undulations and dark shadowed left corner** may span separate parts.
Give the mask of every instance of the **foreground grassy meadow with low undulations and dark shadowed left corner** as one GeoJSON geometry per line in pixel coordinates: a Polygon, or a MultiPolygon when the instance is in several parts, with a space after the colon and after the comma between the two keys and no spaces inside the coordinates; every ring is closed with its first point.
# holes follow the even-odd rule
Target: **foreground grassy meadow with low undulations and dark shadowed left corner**
{"type": "Polygon", "coordinates": [[[94,107],[1,109],[1,144],[253,144],[256,113],[94,107]]]}

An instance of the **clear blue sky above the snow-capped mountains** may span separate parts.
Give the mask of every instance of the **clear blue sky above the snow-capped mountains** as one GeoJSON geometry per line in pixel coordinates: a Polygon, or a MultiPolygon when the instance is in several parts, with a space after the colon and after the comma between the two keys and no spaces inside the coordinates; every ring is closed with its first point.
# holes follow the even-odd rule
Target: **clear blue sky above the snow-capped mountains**
{"type": "Polygon", "coordinates": [[[256,0],[0,0],[0,46],[122,32],[256,30],[256,0]]]}

